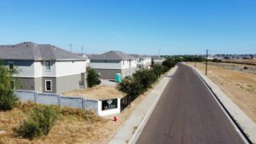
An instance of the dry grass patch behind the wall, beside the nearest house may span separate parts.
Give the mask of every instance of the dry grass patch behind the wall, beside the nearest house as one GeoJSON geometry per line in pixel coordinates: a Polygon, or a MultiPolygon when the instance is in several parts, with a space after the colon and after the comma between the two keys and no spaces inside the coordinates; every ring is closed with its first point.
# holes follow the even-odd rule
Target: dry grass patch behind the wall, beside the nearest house
{"type": "Polygon", "coordinates": [[[93,88],[88,89],[75,89],[62,95],[71,95],[71,96],[83,96],[88,99],[111,99],[111,98],[122,98],[125,95],[122,92],[119,92],[116,89],[116,86],[109,85],[96,85],[93,88]]]}

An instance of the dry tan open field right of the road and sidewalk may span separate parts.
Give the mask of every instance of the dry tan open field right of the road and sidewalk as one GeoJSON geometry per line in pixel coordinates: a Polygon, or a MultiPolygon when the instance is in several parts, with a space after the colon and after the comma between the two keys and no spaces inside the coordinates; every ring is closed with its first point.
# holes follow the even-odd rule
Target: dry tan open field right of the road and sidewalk
{"type": "MultiPolygon", "coordinates": [[[[197,63],[196,68],[205,72],[204,63],[197,63]]],[[[208,66],[207,77],[256,123],[256,74],[208,66]]]]}

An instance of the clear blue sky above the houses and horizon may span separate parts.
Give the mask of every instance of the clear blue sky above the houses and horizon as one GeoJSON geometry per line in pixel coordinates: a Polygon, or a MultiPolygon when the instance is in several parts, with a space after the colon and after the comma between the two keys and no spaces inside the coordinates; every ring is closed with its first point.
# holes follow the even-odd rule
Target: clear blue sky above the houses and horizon
{"type": "Polygon", "coordinates": [[[85,54],[256,54],[256,0],[1,0],[0,44],[85,54]]]}

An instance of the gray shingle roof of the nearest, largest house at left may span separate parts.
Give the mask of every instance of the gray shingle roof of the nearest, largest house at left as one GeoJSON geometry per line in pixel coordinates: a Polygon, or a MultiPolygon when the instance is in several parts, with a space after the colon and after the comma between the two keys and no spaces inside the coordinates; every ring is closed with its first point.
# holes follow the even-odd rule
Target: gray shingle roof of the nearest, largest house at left
{"type": "Polygon", "coordinates": [[[50,44],[32,42],[15,45],[0,45],[2,60],[85,60],[83,56],[71,53],[65,49],[50,44]]]}

